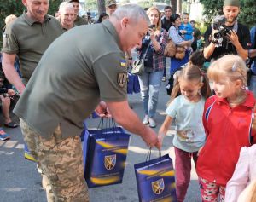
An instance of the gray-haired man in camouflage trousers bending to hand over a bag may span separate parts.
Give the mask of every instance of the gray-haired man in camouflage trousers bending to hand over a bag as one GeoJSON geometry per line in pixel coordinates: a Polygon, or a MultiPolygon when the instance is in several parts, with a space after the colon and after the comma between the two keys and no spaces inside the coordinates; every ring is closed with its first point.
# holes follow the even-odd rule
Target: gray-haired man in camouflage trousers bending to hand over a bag
{"type": "Polygon", "coordinates": [[[34,137],[35,146],[26,143],[37,147],[55,201],[89,201],[79,135],[95,109],[159,148],[157,135],[131,110],[126,93],[124,52],[141,46],[148,25],[143,9],[127,4],[101,24],[74,27],[47,49],[20,96],[14,113],[25,141],[34,137]]]}

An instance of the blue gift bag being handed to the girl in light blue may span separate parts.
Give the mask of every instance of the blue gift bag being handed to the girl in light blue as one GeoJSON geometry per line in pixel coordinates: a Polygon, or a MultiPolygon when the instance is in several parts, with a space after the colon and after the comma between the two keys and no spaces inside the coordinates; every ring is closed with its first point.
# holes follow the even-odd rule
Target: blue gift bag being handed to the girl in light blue
{"type": "Polygon", "coordinates": [[[177,202],[172,159],[168,154],[134,165],[139,201],[177,202]]]}

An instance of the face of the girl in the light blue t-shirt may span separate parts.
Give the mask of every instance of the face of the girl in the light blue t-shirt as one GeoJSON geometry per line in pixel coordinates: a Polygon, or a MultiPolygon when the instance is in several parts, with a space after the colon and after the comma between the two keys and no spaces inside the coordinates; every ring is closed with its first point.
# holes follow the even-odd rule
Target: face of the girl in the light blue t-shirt
{"type": "Polygon", "coordinates": [[[198,81],[186,81],[179,78],[179,87],[181,94],[184,95],[189,101],[195,101],[198,99],[199,90],[203,86],[203,83],[198,81]]]}

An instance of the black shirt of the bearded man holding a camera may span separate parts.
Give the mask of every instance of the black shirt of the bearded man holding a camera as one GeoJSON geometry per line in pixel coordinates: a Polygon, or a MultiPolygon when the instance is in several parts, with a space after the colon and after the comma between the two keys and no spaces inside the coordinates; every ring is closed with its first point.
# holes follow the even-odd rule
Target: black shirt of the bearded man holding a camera
{"type": "MultiPolygon", "coordinates": [[[[232,27],[229,27],[230,29],[232,27]]],[[[241,43],[241,46],[243,49],[249,49],[248,44],[250,43],[250,32],[247,26],[243,26],[242,24],[238,23],[238,28],[237,28],[237,36],[239,43],[241,43]]],[[[207,31],[205,32],[205,47],[207,47],[211,41],[209,41],[209,37],[212,35],[212,27],[208,26],[207,31]]],[[[217,60],[219,57],[223,55],[228,55],[228,54],[233,54],[237,55],[236,47],[232,44],[229,43],[227,38],[223,38],[222,46],[221,47],[216,47],[209,58],[209,61],[211,59],[217,60]]]]}

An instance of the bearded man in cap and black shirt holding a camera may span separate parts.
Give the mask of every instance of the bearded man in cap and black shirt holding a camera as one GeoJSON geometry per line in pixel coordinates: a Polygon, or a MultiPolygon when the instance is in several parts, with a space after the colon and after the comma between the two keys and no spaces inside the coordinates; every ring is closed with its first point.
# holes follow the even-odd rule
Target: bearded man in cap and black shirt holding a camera
{"type": "Polygon", "coordinates": [[[239,12],[239,0],[224,1],[224,28],[227,28],[230,32],[228,32],[226,37],[223,37],[223,41],[219,43],[218,40],[212,37],[212,35],[218,31],[212,30],[212,26],[207,28],[204,49],[204,56],[207,60],[216,60],[227,54],[240,55],[243,60],[247,60],[250,32],[247,26],[243,26],[241,23],[237,22],[236,19],[239,12]],[[217,45],[217,43],[219,44],[217,45]]]}

